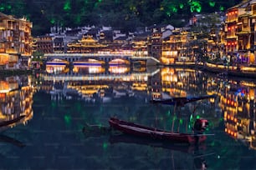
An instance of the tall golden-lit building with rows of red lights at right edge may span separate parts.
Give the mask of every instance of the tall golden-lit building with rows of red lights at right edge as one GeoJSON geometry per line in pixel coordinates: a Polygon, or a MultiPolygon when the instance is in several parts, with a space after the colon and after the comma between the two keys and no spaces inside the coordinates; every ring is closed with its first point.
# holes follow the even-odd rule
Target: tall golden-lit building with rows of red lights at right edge
{"type": "Polygon", "coordinates": [[[225,21],[225,52],[235,62],[254,63],[256,2],[243,1],[230,7],[225,21]]]}

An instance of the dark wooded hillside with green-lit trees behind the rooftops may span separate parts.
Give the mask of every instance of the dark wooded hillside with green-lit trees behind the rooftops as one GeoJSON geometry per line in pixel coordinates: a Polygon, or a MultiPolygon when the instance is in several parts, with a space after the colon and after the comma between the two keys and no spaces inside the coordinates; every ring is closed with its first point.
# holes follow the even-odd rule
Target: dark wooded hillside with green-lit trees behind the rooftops
{"type": "Polygon", "coordinates": [[[225,12],[239,0],[0,0],[0,12],[33,22],[33,35],[54,25],[105,25],[124,32],[154,23],[181,27],[193,13],[225,12]]]}

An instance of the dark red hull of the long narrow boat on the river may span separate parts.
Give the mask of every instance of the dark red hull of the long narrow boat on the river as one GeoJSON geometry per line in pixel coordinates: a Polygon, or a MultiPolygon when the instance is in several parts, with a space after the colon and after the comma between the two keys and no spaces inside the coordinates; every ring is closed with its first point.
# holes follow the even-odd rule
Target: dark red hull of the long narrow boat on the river
{"type": "MultiPolygon", "coordinates": [[[[202,133],[189,134],[167,132],[156,128],[141,126],[133,122],[125,122],[115,117],[110,117],[109,123],[110,127],[114,128],[115,130],[142,138],[167,140],[173,143],[202,143],[207,139],[207,135],[204,135],[202,133]]],[[[202,132],[205,126],[197,126],[198,131],[200,130],[202,132]]]]}

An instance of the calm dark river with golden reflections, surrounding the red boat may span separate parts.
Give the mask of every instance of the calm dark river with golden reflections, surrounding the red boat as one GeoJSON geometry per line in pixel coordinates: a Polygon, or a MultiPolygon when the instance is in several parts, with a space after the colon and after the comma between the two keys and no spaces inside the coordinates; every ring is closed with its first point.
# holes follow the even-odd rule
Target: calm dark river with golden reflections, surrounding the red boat
{"type": "Polygon", "coordinates": [[[256,169],[253,80],[185,68],[90,67],[0,85],[0,169],[256,169]],[[180,114],[150,103],[205,94],[217,97],[188,103],[180,114]],[[205,117],[215,135],[194,147],[83,132],[86,124],[108,127],[110,117],[188,133],[195,117],[205,117]]]}

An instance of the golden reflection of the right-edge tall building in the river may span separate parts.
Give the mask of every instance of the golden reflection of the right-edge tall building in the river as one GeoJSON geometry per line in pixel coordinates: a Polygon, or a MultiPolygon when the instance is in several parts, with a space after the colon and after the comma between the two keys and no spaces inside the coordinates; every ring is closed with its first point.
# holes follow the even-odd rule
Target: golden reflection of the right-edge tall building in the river
{"type": "Polygon", "coordinates": [[[229,81],[220,105],[223,109],[225,133],[256,148],[255,87],[253,82],[229,81]]]}

